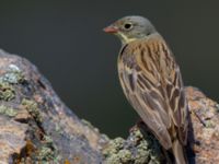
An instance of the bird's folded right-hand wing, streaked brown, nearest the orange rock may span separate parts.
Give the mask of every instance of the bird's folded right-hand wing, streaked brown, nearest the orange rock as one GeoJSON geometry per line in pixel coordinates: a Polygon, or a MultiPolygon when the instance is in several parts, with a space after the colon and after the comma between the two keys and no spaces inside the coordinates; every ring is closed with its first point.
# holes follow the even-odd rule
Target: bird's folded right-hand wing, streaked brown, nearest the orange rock
{"type": "MultiPolygon", "coordinates": [[[[187,126],[188,126],[188,109],[184,93],[183,80],[180,67],[175,62],[174,56],[163,38],[151,39],[152,44],[158,43],[157,54],[160,57],[160,72],[162,77],[163,92],[168,103],[168,112],[172,118],[172,126],[176,127],[178,140],[186,144],[187,126]]],[[[150,46],[151,47],[151,46],[150,46]]],[[[176,134],[172,133],[172,138],[176,134]]]]}

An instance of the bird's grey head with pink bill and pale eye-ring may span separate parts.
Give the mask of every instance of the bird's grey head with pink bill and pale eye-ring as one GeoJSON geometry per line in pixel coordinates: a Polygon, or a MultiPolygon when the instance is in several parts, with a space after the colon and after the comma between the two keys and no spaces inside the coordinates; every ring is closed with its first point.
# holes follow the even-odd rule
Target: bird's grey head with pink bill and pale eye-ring
{"type": "Polygon", "coordinates": [[[117,20],[105,27],[104,32],[115,34],[123,44],[128,44],[132,40],[145,38],[157,31],[148,19],[135,15],[117,20]]]}

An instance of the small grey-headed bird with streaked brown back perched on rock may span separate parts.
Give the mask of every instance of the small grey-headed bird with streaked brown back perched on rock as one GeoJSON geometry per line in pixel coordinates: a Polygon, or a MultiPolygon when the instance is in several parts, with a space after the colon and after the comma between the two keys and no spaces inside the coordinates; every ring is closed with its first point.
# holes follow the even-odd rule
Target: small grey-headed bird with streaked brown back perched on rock
{"type": "Polygon", "coordinates": [[[127,99],[175,163],[186,164],[187,102],[168,44],[142,16],[125,16],[104,31],[122,40],[118,75],[127,99]]]}

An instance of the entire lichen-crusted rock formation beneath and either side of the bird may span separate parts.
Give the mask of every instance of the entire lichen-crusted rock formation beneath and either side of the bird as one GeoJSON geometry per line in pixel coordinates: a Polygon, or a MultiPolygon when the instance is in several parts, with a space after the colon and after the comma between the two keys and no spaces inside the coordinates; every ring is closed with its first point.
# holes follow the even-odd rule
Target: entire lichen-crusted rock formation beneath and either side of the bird
{"type": "MultiPolygon", "coordinates": [[[[219,105],[186,87],[191,109],[191,163],[219,163],[219,105]]],[[[0,164],[166,163],[145,126],[110,140],[79,119],[26,59],[0,50],[0,164]]]]}

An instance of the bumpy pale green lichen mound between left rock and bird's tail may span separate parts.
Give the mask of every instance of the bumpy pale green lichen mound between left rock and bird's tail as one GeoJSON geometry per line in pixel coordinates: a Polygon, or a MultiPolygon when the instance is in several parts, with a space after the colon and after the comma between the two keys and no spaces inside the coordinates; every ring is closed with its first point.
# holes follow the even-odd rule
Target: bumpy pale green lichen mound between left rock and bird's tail
{"type": "Polygon", "coordinates": [[[108,142],[102,151],[104,164],[159,164],[161,152],[155,142],[152,136],[134,128],[127,140],[116,138],[108,142]]]}

